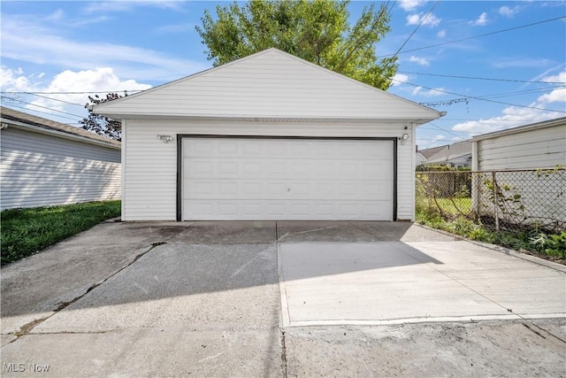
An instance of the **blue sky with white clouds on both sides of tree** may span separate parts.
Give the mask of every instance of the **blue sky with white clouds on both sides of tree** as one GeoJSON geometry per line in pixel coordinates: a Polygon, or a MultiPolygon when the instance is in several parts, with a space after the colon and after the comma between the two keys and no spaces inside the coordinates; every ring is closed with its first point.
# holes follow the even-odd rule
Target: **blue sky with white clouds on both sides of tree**
{"type": "MultiPolygon", "coordinates": [[[[348,4],[350,23],[371,3],[348,4]]],[[[391,31],[376,51],[399,51],[387,91],[447,112],[417,128],[419,149],[566,116],[565,1],[384,3],[391,31]]],[[[88,95],[208,69],[195,27],[204,10],[227,4],[3,0],[2,104],[78,126],[88,95]]]]}

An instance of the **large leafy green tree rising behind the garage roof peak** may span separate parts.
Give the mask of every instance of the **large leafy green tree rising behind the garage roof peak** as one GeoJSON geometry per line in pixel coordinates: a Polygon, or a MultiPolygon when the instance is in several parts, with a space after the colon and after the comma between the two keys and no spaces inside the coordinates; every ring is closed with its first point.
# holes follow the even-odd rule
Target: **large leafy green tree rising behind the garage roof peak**
{"type": "Polygon", "coordinates": [[[216,7],[217,19],[204,12],[196,31],[208,47],[208,59],[223,65],[275,47],[318,66],[387,89],[397,58],[376,55],[376,43],[390,28],[386,5],[364,7],[351,27],[348,1],[250,0],[216,7]]]}

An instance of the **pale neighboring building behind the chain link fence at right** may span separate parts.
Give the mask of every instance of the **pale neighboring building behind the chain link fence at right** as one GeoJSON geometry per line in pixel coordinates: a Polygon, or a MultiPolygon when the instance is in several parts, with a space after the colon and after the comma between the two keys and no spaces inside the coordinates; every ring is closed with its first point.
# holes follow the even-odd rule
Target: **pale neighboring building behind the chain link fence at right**
{"type": "Polygon", "coordinates": [[[501,220],[566,228],[566,117],[478,135],[471,143],[473,170],[487,171],[472,185],[480,215],[495,209],[501,220]]]}

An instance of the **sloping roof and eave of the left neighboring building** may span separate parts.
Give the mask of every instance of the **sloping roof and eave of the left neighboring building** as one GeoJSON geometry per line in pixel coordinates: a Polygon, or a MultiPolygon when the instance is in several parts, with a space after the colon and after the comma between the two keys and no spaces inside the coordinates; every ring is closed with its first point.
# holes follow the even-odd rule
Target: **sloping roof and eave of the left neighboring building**
{"type": "Polygon", "coordinates": [[[82,142],[103,144],[107,147],[119,149],[121,143],[103,135],[97,135],[80,127],[65,125],[65,123],[55,120],[47,120],[25,112],[18,112],[11,108],[0,106],[0,119],[2,123],[8,124],[9,127],[18,127],[27,129],[28,131],[56,134],[68,139],[80,140],[82,142]]]}

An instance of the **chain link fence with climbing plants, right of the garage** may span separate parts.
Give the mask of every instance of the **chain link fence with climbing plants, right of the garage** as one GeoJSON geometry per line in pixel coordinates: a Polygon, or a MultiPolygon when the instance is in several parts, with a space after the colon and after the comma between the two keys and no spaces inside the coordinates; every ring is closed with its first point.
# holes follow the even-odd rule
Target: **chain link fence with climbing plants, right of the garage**
{"type": "Polygon", "coordinates": [[[417,212],[493,231],[566,231],[566,169],[417,172],[417,212]]]}

